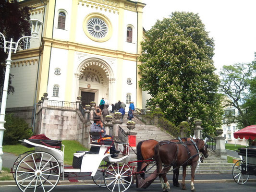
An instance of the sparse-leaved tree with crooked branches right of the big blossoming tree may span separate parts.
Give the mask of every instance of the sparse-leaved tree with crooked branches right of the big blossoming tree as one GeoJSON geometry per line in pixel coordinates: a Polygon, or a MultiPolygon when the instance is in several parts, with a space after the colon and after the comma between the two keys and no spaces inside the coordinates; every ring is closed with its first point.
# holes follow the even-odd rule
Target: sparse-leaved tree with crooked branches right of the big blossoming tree
{"type": "Polygon", "coordinates": [[[247,110],[243,107],[249,82],[252,77],[253,66],[251,63],[235,63],[222,67],[220,74],[220,91],[226,96],[223,108],[236,108],[224,114],[226,123],[237,123],[242,128],[249,125],[247,110]]]}

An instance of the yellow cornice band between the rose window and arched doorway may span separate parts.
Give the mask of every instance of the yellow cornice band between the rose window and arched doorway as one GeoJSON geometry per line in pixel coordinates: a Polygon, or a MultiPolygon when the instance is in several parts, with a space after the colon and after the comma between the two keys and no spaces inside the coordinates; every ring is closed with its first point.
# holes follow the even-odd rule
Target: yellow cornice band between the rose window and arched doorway
{"type": "Polygon", "coordinates": [[[51,46],[54,48],[69,49],[69,47],[72,46],[75,51],[91,53],[95,55],[112,57],[112,58],[121,58],[124,60],[136,61],[136,58],[140,56],[139,54],[127,53],[124,51],[111,50],[106,48],[97,48],[97,47],[82,45],[82,44],[73,43],[73,42],[50,39],[46,37],[43,37],[43,42],[44,44],[45,43],[51,44],[51,46]]]}

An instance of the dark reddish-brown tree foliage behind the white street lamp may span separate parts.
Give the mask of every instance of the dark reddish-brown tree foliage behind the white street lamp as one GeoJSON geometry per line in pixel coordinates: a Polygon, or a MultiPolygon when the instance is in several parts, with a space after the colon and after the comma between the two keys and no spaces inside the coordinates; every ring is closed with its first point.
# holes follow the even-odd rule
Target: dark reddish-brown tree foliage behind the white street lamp
{"type": "MultiPolygon", "coordinates": [[[[17,0],[0,0],[0,32],[7,41],[12,38],[14,42],[17,42],[21,36],[30,35],[29,10],[29,7],[20,8],[17,0]]],[[[2,44],[3,39],[0,36],[0,99],[5,76],[5,60],[7,59],[2,44]]],[[[8,94],[14,92],[11,79],[12,75],[9,78],[8,94]]]]}

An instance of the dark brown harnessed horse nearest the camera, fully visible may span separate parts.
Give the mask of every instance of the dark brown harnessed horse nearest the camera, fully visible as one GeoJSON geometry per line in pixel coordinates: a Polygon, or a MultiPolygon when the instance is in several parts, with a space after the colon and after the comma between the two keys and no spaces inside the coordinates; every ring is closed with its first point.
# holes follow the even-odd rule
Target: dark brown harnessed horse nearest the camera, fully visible
{"type": "Polygon", "coordinates": [[[206,139],[195,139],[195,141],[191,139],[191,141],[184,142],[184,144],[162,141],[155,146],[154,159],[157,163],[157,173],[164,192],[170,192],[170,184],[166,174],[171,166],[174,168],[183,167],[182,189],[185,190],[186,168],[188,165],[191,165],[191,191],[195,191],[195,168],[200,152],[206,158],[208,157],[206,139]],[[163,169],[162,164],[164,164],[163,169]]]}

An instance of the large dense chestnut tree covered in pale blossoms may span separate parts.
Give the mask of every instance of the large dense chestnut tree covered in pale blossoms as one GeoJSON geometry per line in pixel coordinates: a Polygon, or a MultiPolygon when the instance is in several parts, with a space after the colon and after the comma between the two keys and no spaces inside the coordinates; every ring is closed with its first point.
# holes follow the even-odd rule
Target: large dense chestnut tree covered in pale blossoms
{"type": "Polygon", "coordinates": [[[198,14],[173,12],[146,32],[139,58],[139,85],[178,126],[201,119],[207,132],[221,122],[219,78],[214,73],[214,42],[198,14]]]}

